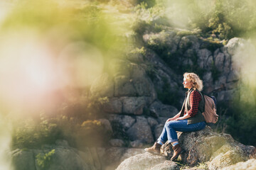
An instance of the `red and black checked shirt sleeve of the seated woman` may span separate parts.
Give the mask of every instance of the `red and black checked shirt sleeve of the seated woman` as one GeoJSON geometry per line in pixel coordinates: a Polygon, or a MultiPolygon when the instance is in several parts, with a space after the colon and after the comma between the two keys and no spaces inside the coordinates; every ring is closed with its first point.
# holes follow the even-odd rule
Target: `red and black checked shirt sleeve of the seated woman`
{"type": "Polygon", "coordinates": [[[193,117],[196,115],[196,113],[198,113],[199,102],[201,100],[202,100],[202,97],[198,91],[191,92],[189,96],[189,103],[190,103],[191,109],[188,111],[188,115],[193,117]]]}

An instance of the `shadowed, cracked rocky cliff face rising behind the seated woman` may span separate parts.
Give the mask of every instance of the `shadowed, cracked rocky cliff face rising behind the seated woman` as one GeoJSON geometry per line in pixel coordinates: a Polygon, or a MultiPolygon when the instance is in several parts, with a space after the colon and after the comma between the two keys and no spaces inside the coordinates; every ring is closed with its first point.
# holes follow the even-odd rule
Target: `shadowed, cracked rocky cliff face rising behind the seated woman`
{"type": "Polygon", "coordinates": [[[109,98],[103,111],[113,131],[122,131],[114,132],[122,135],[114,136],[112,146],[122,146],[124,141],[120,140],[128,140],[130,146],[138,147],[159,137],[166,119],[176,115],[183,102],[181,71],[186,68],[198,67],[203,75],[204,92],[214,94],[218,102],[232,100],[238,86],[239,74],[233,55],[244,43],[239,38],[223,46],[196,35],[182,36],[169,30],[145,34],[143,40],[141,50],[128,52],[125,59],[112,60],[110,72],[98,77],[90,89],[92,96],[109,98]],[[175,60],[164,60],[159,49],[167,50],[175,60]],[[170,67],[171,64],[176,65],[170,67]],[[176,106],[164,104],[163,96],[172,98],[176,106]]]}

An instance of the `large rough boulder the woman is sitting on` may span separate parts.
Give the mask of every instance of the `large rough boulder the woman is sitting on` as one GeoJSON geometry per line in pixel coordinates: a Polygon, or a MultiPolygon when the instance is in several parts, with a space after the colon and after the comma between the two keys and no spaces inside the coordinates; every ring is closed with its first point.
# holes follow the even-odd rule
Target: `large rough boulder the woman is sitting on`
{"type": "MultiPolygon", "coordinates": [[[[191,166],[207,162],[209,169],[220,169],[255,157],[255,147],[242,145],[230,135],[213,132],[208,126],[198,132],[182,132],[179,142],[186,150],[181,159],[191,166]]],[[[171,147],[166,147],[163,153],[171,155],[171,147]]]]}

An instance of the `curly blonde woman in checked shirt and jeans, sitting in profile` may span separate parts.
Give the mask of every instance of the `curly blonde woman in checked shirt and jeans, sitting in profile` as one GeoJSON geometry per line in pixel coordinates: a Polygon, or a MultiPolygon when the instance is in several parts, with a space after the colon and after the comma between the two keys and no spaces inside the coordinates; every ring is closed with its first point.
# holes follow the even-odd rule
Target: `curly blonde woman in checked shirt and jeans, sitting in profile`
{"type": "Polygon", "coordinates": [[[152,147],[146,148],[146,152],[160,153],[161,145],[167,141],[171,143],[174,149],[174,155],[171,161],[178,158],[178,155],[183,152],[178,144],[177,132],[193,132],[203,130],[206,127],[206,120],[203,118],[202,112],[204,101],[199,91],[203,89],[203,82],[194,73],[183,74],[183,86],[188,89],[186,98],[183,102],[181,111],[173,118],[166,120],[164,129],[160,137],[152,147]],[[189,101],[188,101],[189,100],[189,101]]]}

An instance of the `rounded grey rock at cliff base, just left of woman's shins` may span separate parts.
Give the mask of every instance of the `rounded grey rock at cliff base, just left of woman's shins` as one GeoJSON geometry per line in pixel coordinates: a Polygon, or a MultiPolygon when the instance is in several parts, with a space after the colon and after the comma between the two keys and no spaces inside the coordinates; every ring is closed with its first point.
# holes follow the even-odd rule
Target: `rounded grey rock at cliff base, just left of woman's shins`
{"type": "Polygon", "coordinates": [[[130,140],[141,140],[147,143],[154,142],[150,125],[147,123],[146,118],[143,117],[137,117],[137,122],[127,130],[127,135],[130,140]]]}

